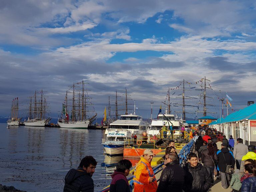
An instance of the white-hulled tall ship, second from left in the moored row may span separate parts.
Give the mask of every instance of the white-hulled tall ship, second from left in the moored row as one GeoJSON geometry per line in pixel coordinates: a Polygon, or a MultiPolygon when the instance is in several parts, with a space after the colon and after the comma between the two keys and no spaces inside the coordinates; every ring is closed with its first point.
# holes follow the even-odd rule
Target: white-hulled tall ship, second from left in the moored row
{"type": "Polygon", "coordinates": [[[30,96],[29,107],[26,113],[28,114],[27,120],[25,119],[25,126],[44,127],[45,124],[50,122],[48,103],[44,96],[44,91],[35,91],[33,96],[30,96]]]}

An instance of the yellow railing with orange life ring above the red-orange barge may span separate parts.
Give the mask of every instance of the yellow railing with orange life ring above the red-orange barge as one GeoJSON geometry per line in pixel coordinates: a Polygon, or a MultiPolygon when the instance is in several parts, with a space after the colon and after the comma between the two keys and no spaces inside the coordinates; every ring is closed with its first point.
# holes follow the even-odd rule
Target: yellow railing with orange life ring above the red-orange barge
{"type": "Polygon", "coordinates": [[[137,148],[150,148],[150,149],[155,149],[155,140],[150,140],[147,142],[147,140],[140,140],[140,139],[125,139],[124,140],[124,148],[127,147],[137,147],[137,148]]]}

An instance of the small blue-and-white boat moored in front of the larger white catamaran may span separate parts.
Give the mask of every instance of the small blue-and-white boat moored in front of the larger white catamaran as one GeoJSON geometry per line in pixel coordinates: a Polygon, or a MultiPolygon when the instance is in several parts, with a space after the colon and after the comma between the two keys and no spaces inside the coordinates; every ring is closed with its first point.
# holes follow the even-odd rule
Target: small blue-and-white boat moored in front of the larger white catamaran
{"type": "Polygon", "coordinates": [[[124,153],[125,139],[132,139],[129,130],[109,130],[106,139],[102,139],[102,145],[108,155],[120,155],[124,153]]]}

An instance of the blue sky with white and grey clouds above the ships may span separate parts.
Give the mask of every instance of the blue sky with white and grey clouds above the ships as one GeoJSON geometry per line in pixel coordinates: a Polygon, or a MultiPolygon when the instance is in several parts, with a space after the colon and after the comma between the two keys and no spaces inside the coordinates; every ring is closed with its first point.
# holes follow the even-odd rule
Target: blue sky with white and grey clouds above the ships
{"type": "MultiPolygon", "coordinates": [[[[43,89],[57,117],[68,86],[84,80],[98,117],[125,88],[145,118],[153,100],[154,117],[168,88],[204,76],[216,105],[209,111],[219,111],[226,92],[233,110],[244,108],[256,93],[255,9],[253,0],[3,0],[0,115],[10,114],[13,98],[25,108],[43,89]]],[[[179,91],[170,90],[171,102],[179,91]]]]}

